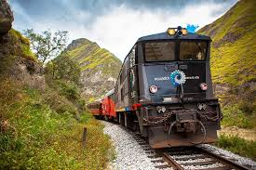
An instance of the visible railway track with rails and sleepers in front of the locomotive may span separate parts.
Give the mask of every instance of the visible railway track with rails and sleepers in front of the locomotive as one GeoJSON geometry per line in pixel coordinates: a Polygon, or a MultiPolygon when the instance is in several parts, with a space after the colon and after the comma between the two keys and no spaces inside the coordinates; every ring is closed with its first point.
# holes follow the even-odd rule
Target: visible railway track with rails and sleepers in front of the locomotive
{"type": "Polygon", "coordinates": [[[179,147],[171,149],[153,150],[140,136],[135,137],[143,150],[151,158],[157,169],[173,170],[249,170],[249,165],[236,163],[223,155],[215,154],[200,147],[179,147]]]}

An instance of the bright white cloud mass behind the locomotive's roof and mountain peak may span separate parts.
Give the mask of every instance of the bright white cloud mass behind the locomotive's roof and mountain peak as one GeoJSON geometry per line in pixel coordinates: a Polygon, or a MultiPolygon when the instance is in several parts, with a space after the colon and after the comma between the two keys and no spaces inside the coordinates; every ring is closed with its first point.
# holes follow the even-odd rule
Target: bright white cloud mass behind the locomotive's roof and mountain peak
{"type": "Polygon", "coordinates": [[[205,4],[185,7],[177,14],[160,10],[154,13],[121,6],[98,18],[85,35],[112,51],[119,59],[124,59],[139,37],[165,32],[168,27],[186,26],[187,23],[202,27],[220,17],[222,14],[211,17],[214,10],[220,9],[220,4],[205,4]]]}

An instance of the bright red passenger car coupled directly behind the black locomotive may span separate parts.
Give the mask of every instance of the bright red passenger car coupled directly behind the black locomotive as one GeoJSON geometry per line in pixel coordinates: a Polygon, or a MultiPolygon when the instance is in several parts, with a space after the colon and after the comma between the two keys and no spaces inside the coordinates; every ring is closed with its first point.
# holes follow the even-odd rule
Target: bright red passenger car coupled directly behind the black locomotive
{"type": "Polygon", "coordinates": [[[102,107],[102,115],[105,119],[115,119],[115,90],[110,90],[105,97],[102,99],[101,107],[102,107]]]}

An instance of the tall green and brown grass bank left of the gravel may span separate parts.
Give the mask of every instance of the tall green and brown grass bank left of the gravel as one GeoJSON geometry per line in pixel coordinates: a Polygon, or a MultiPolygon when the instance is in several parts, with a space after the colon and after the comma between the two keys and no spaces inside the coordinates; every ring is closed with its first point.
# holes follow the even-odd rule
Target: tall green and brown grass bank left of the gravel
{"type": "Polygon", "coordinates": [[[72,102],[50,88],[46,92],[1,81],[0,169],[104,169],[114,155],[109,137],[87,111],[79,119],[73,111],[78,112],[72,102]],[[50,92],[55,100],[47,99],[50,92]],[[68,109],[62,103],[68,103],[68,109]]]}

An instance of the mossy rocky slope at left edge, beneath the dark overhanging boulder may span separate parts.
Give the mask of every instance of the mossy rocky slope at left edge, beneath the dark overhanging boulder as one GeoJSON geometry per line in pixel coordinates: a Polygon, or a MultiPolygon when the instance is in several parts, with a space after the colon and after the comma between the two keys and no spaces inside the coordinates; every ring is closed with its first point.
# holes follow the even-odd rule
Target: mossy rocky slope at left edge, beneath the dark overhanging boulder
{"type": "Polygon", "coordinates": [[[45,87],[42,66],[30,50],[30,41],[11,29],[0,41],[0,79],[12,77],[34,87],[45,87]]]}

